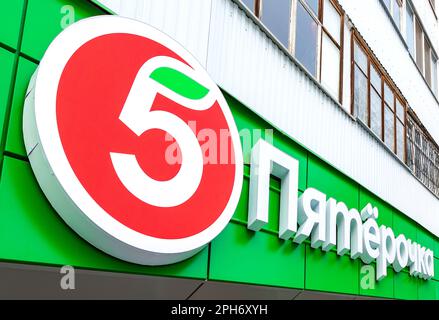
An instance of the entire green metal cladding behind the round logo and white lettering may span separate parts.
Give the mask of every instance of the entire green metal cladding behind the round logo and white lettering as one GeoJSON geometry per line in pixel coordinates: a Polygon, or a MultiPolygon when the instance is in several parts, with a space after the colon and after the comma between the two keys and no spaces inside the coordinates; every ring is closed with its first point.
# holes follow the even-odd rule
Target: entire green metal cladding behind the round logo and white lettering
{"type": "MultiPolygon", "coordinates": [[[[21,133],[28,82],[50,41],[62,30],[61,9],[65,5],[74,6],[75,20],[105,14],[85,0],[0,2],[0,260],[385,298],[439,299],[439,239],[276,129],[274,145],[299,161],[299,194],[314,187],[351,208],[373,203],[379,208],[379,224],[434,250],[434,279],[424,281],[410,277],[407,269],[400,273],[389,269],[388,276],[373,290],[364,290],[360,286],[361,260],[312,249],[309,242],[297,246],[280,240],[280,183],[276,179],[270,187],[270,222],[260,232],[247,230],[248,165],[232,221],[189,260],[165,267],[140,266],[115,259],[82,240],[61,220],[40,190],[21,133]]],[[[272,128],[233,97],[227,93],[225,96],[239,130],[272,128]]]]}

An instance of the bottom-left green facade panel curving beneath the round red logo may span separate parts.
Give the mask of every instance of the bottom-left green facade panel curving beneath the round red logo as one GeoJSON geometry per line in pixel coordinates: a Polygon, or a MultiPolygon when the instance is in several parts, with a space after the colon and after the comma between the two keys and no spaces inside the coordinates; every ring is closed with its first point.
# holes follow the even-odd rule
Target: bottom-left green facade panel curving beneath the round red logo
{"type": "Polygon", "coordinates": [[[124,262],[96,249],[52,209],[27,162],[5,157],[0,180],[0,259],[205,279],[208,250],[164,267],[124,262]]]}

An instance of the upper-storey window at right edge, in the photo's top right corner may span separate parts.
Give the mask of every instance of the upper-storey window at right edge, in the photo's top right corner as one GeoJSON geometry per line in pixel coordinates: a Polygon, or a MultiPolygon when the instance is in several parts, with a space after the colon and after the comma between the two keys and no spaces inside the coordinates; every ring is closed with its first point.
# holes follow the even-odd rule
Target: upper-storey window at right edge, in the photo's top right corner
{"type": "Polygon", "coordinates": [[[438,94],[437,55],[409,1],[406,2],[406,42],[419,71],[435,96],[438,94]]]}

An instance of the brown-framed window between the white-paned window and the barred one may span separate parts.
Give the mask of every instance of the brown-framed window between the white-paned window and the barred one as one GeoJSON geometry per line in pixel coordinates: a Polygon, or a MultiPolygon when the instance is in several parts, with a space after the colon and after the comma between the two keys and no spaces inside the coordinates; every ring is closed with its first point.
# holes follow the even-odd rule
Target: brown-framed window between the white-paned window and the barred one
{"type": "Polygon", "coordinates": [[[405,161],[406,103],[355,31],[352,40],[352,114],[405,161]]]}

